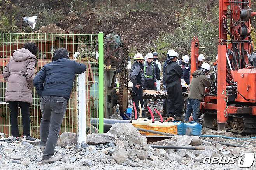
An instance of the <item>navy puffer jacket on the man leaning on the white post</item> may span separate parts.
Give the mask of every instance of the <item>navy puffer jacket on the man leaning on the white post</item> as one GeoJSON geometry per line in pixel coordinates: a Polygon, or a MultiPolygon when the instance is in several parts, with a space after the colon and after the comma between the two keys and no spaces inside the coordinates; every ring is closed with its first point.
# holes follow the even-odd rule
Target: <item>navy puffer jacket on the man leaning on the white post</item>
{"type": "Polygon", "coordinates": [[[39,97],[60,96],[70,99],[75,74],[86,71],[86,66],[62,56],[46,64],[35,76],[33,83],[39,97]]]}

